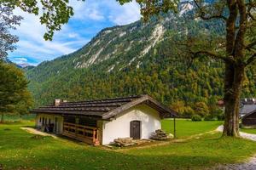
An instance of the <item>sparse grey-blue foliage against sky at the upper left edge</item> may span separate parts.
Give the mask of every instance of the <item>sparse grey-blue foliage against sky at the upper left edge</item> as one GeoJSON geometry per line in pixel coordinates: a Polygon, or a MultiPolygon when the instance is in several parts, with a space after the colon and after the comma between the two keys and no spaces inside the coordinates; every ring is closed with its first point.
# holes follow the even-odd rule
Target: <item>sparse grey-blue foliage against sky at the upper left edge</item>
{"type": "Polygon", "coordinates": [[[13,8],[0,3],[0,59],[5,58],[8,51],[15,49],[14,44],[19,41],[19,38],[12,35],[9,30],[20,25],[21,19],[22,17],[13,14],[13,8]]]}

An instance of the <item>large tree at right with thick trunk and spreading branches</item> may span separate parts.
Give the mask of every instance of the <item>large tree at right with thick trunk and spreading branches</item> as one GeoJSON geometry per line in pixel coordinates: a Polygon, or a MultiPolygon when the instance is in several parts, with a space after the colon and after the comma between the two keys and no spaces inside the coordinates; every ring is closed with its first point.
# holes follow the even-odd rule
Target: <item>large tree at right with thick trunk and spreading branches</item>
{"type": "MultiPolygon", "coordinates": [[[[120,0],[128,3],[130,0],[120,0]]],[[[151,15],[177,10],[175,0],[137,0],[145,20],[151,15]]],[[[208,56],[221,59],[225,65],[224,77],[224,136],[239,136],[239,105],[241,88],[248,65],[256,60],[256,1],[255,0],[194,0],[195,17],[201,20],[219,20],[226,28],[224,37],[207,35],[187,37],[186,50],[192,59],[208,56]]]]}

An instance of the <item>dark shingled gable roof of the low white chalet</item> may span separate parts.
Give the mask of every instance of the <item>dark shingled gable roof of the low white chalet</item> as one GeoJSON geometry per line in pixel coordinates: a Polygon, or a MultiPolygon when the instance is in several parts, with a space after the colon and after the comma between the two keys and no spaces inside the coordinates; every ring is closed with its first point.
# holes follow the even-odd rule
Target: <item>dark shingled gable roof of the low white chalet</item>
{"type": "Polygon", "coordinates": [[[61,114],[93,116],[99,119],[109,119],[132,106],[146,104],[157,111],[162,117],[176,116],[177,112],[172,111],[165,105],[160,104],[148,95],[129,96],[114,99],[95,99],[78,102],[62,102],[60,105],[46,105],[34,109],[32,113],[61,114]]]}

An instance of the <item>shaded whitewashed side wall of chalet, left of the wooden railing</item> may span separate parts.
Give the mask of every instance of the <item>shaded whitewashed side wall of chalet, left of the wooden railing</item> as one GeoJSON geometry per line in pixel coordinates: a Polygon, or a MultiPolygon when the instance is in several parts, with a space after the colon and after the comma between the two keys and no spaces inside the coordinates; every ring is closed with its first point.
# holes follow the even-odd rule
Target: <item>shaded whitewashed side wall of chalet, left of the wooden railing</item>
{"type": "Polygon", "coordinates": [[[56,131],[57,133],[62,133],[63,131],[63,117],[62,116],[57,116],[57,115],[48,115],[48,114],[41,114],[39,113],[36,116],[36,127],[40,128],[43,125],[43,118],[44,120],[47,119],[47,124],[49,124],[49,119],[50,123],[55,124],[55,118],[57,118],[57,125],[56,125],[56,131]],[[41,122],[40,122],[41,118],[41,122]]]}

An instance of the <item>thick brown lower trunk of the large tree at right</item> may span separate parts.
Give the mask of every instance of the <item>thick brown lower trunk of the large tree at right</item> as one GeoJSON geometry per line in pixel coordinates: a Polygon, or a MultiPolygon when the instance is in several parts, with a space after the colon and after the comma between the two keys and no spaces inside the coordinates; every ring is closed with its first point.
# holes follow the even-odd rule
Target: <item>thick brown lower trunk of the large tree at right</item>
{"type": "Polygon", "coordinates": [[[226,63],[224,84],[224,136],[239,136],[239,108],[244,66],[226,63]]]}

